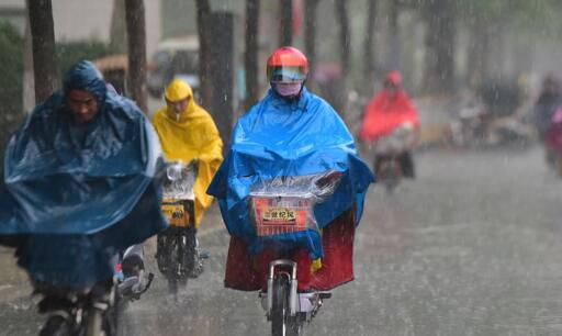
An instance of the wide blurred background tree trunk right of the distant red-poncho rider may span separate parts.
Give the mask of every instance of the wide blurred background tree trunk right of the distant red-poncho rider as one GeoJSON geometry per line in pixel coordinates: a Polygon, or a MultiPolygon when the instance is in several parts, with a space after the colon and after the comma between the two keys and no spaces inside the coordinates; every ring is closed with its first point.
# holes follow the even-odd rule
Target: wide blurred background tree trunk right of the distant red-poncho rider
{"type": "Polygon", "coordinates": [[[454,90],[454,2],[428,0],[424,5],[427,23],[426,88],[429,92],[454,90]]]}

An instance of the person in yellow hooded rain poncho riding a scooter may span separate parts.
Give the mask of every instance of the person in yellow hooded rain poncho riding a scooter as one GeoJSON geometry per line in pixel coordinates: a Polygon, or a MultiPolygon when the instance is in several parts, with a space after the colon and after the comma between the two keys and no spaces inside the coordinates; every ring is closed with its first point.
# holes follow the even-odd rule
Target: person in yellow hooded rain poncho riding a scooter
{"type": "Polygon", "coordinates": [[[204,211],[213,203],[206,189],[223,161],[223,142],[213,119],[195,103],[187,82],[172,80],[165,99],[166,107],[156,111],[153,124],[168,160],[189,163],[199,159],[199,175],[193,188],[195,228],[199,228],[204,211]]]}

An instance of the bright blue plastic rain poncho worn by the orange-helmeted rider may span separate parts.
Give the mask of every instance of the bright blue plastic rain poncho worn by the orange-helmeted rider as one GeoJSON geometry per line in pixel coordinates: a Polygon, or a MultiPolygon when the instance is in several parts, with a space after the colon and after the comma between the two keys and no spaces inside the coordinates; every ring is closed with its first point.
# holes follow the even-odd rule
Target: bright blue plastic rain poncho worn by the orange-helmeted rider
{"type": "Polygon", "coordinates": [[[251,254],[276,244],[304,247],[316,259],[323,256],[321,229],[351,206],[357,225],[373,180],[357,155],[353,137],[328,103],[306,88],[293,101],[270,90],[236,124],[227,159],[207,192],[217,198],[229,234],[244,239],[251,254]],[[303,186],[314,189],[329,176],[338,176],[337,183],[315,198],[314,226],[269,236],[257,233],[250,193],[283,186],[289,192],[303,186]]]}

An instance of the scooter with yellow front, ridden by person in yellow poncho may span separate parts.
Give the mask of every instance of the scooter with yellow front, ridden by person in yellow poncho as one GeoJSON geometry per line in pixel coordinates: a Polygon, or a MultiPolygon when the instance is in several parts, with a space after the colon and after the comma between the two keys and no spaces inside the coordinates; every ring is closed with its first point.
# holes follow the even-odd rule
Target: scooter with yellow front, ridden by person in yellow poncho
{"type": "Polygon", "coordinates": [[[168,280],[170,293],[186,287],[188,279],[203,272],[203,259],[195,228],[195,194],[199,161],[188,165],[173,163],[167,168],[167,182],[164,183],[162,213],[170,226],[158,234],[156,261],[158,269],[168,280]]]}

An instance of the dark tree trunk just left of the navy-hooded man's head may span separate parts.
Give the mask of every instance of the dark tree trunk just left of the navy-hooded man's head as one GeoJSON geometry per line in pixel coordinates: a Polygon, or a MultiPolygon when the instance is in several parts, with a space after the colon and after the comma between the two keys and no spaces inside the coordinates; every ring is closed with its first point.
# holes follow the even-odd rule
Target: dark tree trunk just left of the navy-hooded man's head
{"type": "Polygon", "coordinates": [[[35,102],[47,99],[59,86],[55,59],[55,27],[50,0],[27,0],[33,46],[35,102]]]}

